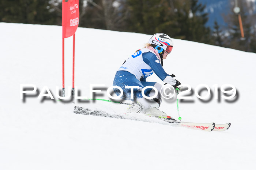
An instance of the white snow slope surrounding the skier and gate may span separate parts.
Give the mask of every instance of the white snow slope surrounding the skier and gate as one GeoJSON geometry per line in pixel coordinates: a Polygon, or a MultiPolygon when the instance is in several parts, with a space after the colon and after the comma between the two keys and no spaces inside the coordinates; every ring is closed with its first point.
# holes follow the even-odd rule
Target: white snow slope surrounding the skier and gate
{"type": "MultiPolygon", "coordinates": [[[[159,123],[73,113],[74,104],[37,97],[20,99],[20,84],[62,85],[62,28],[0,23],[0,169],[255,169],[256,54],[174,39],[164,69],[193,90],[199,84],[233,84],[236,102],[221,98],[180,103],[182,120],[231,122],[210,133],[159,123]]],[[[75,84],[89,96],[90,84],[112,85],[116,70],[151,35],[78,28],[75,84]]],[[[171,35],[170,35],[171,36],[171,35]]],[[[152,75],[148,81],[162,83],[152,75]]],[[[65,39],[65,83],[72,85],[72,37],[65,39]]],[[[41,92],[41,91],[39,91],[41,92]]],[[[103,91],[103,93],[106,91],[103,91]]],[[[202,94],[203,95],[203,94],[202,94]]],[[[97,96],[105,98],[106,95],[97,96]]],[[[83,100],[84,101],[84,100],[83,100]]],[[[79,103],[123,110],[108,102],[79,103]]],[[[175,100],[160,109],[177,118],[175,100]]]]}

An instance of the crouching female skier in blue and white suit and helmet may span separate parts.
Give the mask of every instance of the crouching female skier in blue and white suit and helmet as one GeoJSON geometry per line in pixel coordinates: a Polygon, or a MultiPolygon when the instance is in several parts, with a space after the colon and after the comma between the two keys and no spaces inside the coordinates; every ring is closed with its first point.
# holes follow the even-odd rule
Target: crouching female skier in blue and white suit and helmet
{"type": "MultiPolygon", "coordinates": [[[[181,83],[174,79],[173,74],[169,75],[163,70],[163,59],[167,58],[173,48],[171,38],[164,33],[154,34],[144,48],[137,50],[131,55],[116,72],[113,86],[119,86],[123,89],[122,99],[136,101],[132,103],[127,112],[145,112],[152,116],[170,118],[158,110],[161,104],[161,87],[156,82],[147,82],[148,76],[155,73],[163,82],[168,83],[174,89],[181,83]],[[161,64],[160,64],[161,61],[161,64]],[[137,86],[131,89],[127,86],[137,86]],[[154,86],[158,90],[158,95],[154,99],[146,99],[142,95],[142,89],[146,86],[154,86]],[[126,88],[125,88],[126,87],[126,88]],[[131,98],[133,90],[133,99],[131,98]]],[[[120,90],[114,88],[116,95],[120,95],[120,90]]],[[[144,95],[150,97],[155,95],[155,90],[147,88],[144,95]]]]}

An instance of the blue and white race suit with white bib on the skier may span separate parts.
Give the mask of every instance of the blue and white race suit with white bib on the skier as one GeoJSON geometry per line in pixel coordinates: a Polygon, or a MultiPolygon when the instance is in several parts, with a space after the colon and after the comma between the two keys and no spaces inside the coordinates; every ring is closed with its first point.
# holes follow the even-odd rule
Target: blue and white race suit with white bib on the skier
{"type": "MultiPolygon", "coordinates": [[[[148,48],[142,48],[135,54],[131,55],[123,65],[116,72],[113,86],[119,86],[123,89],[122,99],[133,100],[131,99],[131,89],[125,88],[125,86],[139,86],[140,88],[133,90],[133,98],[143,98],[141,94],[142,88],[146,86],[154,86],[158,89],[158,94],[162,87],[161,84],[156,82],[146,82],[148,76],[151,76],[155,73],[163,82],[169,83],[171,85],[176,84],[176,80],[167,74],[163,67],[160,64],[160,60],[154,54],[153,51],[148,48]]],[[[147,88],[144,91],[146,96],[151,95],[152,88],[147,88]]],[[[153,90],[154,91],[154,90],[153,90]]],[[[116,95],[120,95],[120,91],[117,88],[114,88],[116,95]]],[[[158,97],[159,100],[161,100],[158,97]]]]}

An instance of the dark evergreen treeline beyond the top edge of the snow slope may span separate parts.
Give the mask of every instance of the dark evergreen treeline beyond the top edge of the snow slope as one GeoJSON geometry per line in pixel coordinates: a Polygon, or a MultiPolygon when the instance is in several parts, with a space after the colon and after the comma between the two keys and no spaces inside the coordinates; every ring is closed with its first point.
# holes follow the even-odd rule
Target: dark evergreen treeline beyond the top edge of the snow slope
{"type": "MultiPolygon", "coordinates": [[[[62,0],[0,0],[0,21],[7,23],[61,25],[62,0]]],[[[238,0],[245,38],[238,17],[223,16],[227,26],[215,21],[206,27],[208,14],[198,0],[79,0],[79,27],[154,34],[256,52],[256,16],[253,5],[238,0]]],[[[251,2],[253,3],[253,2],[251,2]]]]}

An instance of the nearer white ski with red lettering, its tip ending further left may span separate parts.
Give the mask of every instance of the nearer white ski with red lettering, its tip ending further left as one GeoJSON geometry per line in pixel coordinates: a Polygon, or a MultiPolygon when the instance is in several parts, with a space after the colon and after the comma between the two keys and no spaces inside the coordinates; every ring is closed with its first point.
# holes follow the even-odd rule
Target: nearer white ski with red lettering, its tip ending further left
{"type": "MultiPolygon", "coordinates": [[[[129,119],[129,120],[139,120],[139,121],[143,121],[143,122],[154,122],[153,120],[143,119],[143,118],[136,117],[136,116],[129,116],[126,114],[109,114],[105,111],[91,110],[89,108],[84,108],[84,107],[80,107],[80,106],[74,107],[74,113],[83,114],[83,115],[102,116],[102,117],[116,118],[116,119],[129,119]]],[[[170,124],[173,126],[181,126],[181,127],[192,128],[192,129],[200,129],[203,131],[212,131],[212,130],[214,130],[214,127],[215,127],[215,123],[213,123],[213,122],[211,122],[211,123],[193,123],[193,122],[180,122],[180,121],[169,120],[169,119],[165,119],[165,118],[157,118],[157,119],[162,120],[161,122],[159,121],[157,123],[162,123],[162,124],[167,123],[167,124],[170,124]]]]}

